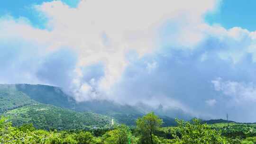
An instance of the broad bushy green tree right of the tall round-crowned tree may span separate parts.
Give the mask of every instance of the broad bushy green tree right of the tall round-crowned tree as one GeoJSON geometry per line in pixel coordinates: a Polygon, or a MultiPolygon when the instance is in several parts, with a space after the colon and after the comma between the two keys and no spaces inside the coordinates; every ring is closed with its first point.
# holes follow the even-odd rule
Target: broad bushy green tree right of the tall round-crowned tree
{"type": "Polygon", "coordinates": [[[226,144],[216,130],[210,129],[207,124],[201,124],[198,119],[193,119],[192,123],[176,121],[181,135],[175,135],[178,144],[226,144]]]}

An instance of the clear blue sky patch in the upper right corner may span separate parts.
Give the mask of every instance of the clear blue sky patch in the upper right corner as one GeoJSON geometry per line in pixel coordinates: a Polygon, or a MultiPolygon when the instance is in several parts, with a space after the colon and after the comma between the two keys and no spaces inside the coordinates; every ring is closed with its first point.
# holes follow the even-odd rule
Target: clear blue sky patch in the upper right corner
{"type": "Polygon", "coordinates": [[[227,29],[242,27],[255,31],[255,5],[255,0],[223,0],[215,13],[206,16],[206,21],[210,24],[220,24],[227,29]]]}

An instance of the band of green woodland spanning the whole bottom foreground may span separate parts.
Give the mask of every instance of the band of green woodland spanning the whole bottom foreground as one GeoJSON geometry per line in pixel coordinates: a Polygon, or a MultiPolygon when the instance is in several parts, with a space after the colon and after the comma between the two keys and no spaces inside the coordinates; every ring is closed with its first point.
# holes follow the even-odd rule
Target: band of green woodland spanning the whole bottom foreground
{"type": "Polygon", "coordinates": [[[38,129],[32,124],[13,126],[0,118],[0,144],[256,144],[255,124],[218,123],[176,119],[177,126],[162,127],[153,112],[124,124],[91,129],[38,129]]]}

